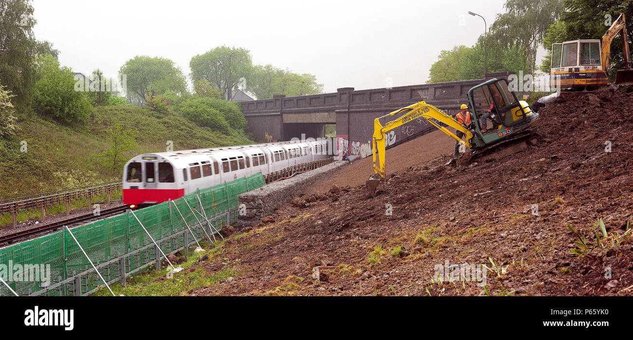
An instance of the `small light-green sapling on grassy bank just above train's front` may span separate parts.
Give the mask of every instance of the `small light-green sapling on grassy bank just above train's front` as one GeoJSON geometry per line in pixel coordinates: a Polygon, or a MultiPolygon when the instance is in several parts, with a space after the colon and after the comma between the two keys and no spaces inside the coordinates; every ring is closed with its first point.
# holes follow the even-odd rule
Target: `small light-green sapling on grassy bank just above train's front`
{"type": "Polygon", "coordinates": [[[127,161],[125,154],[137,147],[136,136],[138,130],[125,130],[121,124],[116,123],[114,128],[108,129],[108,141],[110,148],[97,155],[106,169],[120,171],[127,161]]]}

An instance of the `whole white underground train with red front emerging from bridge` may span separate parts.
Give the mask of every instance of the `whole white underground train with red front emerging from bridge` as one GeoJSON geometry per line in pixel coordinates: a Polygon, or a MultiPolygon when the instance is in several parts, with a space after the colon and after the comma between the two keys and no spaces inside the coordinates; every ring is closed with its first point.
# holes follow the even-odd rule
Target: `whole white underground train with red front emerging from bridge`
{"type": "Polygon", "coordinates": [[[175,200],[196,189],[325,159],[331,147],[328,140],[315,140],[137,155],[123,167],[123,204],[135,208],[175,200]]]}

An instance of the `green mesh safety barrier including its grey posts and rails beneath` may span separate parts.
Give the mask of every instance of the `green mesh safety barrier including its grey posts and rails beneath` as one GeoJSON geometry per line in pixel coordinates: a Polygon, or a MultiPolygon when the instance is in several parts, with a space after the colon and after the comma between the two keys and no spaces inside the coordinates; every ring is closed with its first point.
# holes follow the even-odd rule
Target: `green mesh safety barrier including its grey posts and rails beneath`
{"type": "Polygon", "coordinates": [[[104,283],[125,284],[150,265],[160,269],[166,253],[188,252],[202,238],[215,241],[223,225],[237,221],[237,196],[264,185],[258,173],[1,248],[0,265],[10,269],[0,270],[0,296],[84,296],[104,283]],[[42,274],[50,282],[42,284],[42,274]]]}

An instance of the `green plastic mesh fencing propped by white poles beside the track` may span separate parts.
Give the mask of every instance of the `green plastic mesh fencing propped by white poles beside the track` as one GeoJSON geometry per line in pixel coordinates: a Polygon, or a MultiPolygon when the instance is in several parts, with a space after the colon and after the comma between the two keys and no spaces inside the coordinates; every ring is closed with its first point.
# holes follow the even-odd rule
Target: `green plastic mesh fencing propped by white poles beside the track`
{"type": "MultiPolygon", "coordinates": [[[[235,179],[230,183],[198,190],[172,202],[163,202],[135,210],[134,214],[154,240],[161,240],[185,229],[189,234],[191,232],[187,226],[192,228],[196,225],[198,228],[192,228],[192,230],[196,239],[199,240],[206,237],[203,228],[198,223],[204,221],[203,216],[208,219],[215,217],[215,222],[210,221],[211,225],[217,230],[221,229],[227,221],[217,216],[237,207],[239,194],[264,185],[263,176],[258,173],[248,178],[235,179]]],[[[130,212],[73,228],[71,231],[88,257],[97,266],[152,243],[141,224],[130,212]]],[[[182,248],[185,237],[192,239],[191,234],[182,236],[175,242],[170,241],[168,245],[161,244],[161,249],[167,253],[173,249],[182,248]]],[[[143,254],[147,256],[147,252],[139,251],[136,257],[130,257],[132,260],[126,264],[125,272],[133,272],[134,269],[145,267],[149,259],[144,259],[143,254]]],[[[28,295],[45,289],[42,281],[49,281],[49,287],[55,286],[55,282],[65,281],[68,277],[91,268],[84,253],[70,233],[65,230],[0,249],[0,277],[20,295],[28,295]],[[47,266],[50,266],[50,270],[47,266]],[[29,277],[25,278],[25,273],[29,274],[29,277]]],[[[99,269],[99,272],[104,277],[111,276],[109,270],[104,272],[99,269]]],[[[85,281],[80,282],[85,286],[85,291],[90,291],[103,283],[99,282],[96,273],[93,272],[92,275],[94,276],[92,279],[87,277],[85,281]]],[[[58,286],[56,290],[46,289],[46,294],[72,294],[65,284],[58,284],[58,286]]],[[[4,284],[0,284],[0,296],[7,295],[12,295],[11,291],[4,284]]]]}

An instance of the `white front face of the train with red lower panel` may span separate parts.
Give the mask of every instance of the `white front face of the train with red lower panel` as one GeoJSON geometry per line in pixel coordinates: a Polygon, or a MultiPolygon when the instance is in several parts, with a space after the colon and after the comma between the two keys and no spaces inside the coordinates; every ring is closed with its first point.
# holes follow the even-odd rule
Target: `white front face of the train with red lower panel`
{"type": "Polygon", "coordinates": [[[179,176],[163,155],[138,155],[123,167],[123,204],[137,208],[182,197],[185,188],[179,176]]]}

